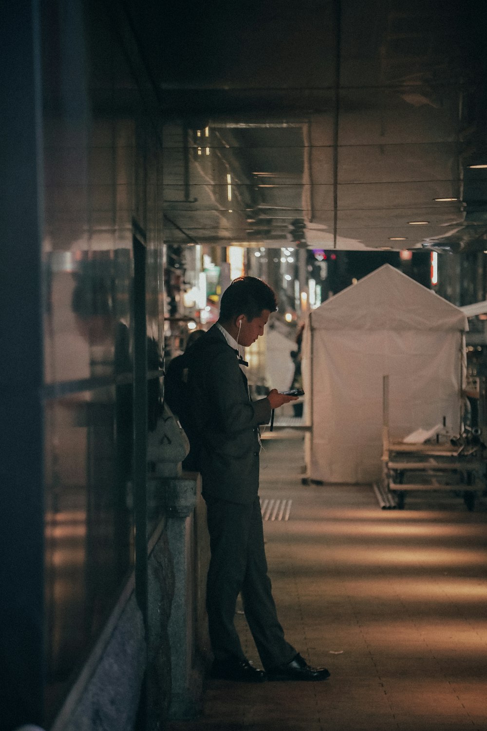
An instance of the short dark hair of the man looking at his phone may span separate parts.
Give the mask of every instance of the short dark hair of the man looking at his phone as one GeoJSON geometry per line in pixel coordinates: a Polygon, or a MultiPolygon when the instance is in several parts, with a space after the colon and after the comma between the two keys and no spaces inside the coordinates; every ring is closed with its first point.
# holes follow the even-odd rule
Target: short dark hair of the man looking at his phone
{"type": "Polygon", "coordinates": [[[221,295],[221,322],[228,322],[241,314],[250,321],[258,317],[262,310],[275,312],[277,300],[269,284],[255,276],[239,276],[221,295]]]}

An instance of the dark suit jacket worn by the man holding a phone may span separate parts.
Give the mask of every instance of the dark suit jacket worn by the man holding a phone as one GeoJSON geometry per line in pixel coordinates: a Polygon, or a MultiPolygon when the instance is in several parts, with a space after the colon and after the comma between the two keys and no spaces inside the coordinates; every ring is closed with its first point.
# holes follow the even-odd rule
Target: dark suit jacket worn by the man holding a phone
{"type": "Polygon", "coordinates": [[[250,401],[237,352],[215,325],[188,351],[188,395],[203,496],[252,503],[258,493],[258,425],[269,421],[271,406],[267,398],[250,401]]]}

